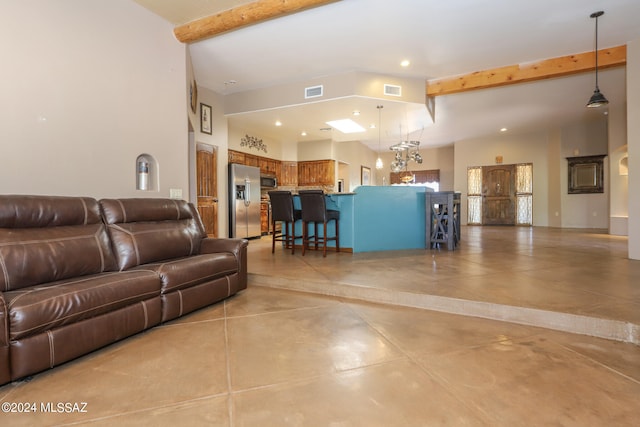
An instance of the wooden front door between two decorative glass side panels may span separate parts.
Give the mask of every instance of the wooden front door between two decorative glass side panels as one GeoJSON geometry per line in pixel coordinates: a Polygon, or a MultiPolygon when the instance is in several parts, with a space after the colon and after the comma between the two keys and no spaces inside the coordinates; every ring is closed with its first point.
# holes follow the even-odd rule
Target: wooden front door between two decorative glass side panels
{"type": "Polygon", "coordinates": [[[515,165],[482,168],[482,224],[515,225],[515,165]]]}

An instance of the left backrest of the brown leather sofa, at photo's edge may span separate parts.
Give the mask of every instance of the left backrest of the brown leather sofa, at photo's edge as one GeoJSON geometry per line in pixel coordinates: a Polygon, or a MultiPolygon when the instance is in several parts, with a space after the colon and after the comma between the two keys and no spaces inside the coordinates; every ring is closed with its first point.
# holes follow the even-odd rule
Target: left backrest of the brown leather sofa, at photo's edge
{"type": "Polygon", "coordinates": [[[0,291],[115,269],[97,200],[0,195],[0,291]]]}

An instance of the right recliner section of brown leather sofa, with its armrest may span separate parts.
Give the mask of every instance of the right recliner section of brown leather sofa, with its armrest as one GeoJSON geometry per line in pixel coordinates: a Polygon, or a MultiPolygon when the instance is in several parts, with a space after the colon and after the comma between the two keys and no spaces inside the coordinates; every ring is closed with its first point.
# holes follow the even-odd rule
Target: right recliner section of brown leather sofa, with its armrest
{"type": "Polygon", "coordinates": [[[247,287],[246,241],[206,239],[193,205],[168,199],[100,203],[118,268],[160,277],[163,322],[247,287]]]}

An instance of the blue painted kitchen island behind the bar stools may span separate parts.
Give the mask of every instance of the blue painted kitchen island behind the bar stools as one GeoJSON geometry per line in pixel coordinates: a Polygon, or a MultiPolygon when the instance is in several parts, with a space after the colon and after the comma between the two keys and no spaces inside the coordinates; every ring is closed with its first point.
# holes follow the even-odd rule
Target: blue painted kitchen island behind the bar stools
{"type": "MultiPolygon", "coordinates": [[[[373,252],[425,249],[425,192],[428,187],[362,186],[353,193],[327,194],[327,209],[340,211],[340,250],[373,252]]],[[[294,196],[300,209],[300,198],[294,196]]],[[[302,225],[296,224],[296,235],[302,225]]],[[[333,222],[328,235],[335,232],[333,222]]],[[[302,245],[301,239],[296,240],[302,245]]],[[[329,242],[335,248],[335,242],[329,242]]]]}

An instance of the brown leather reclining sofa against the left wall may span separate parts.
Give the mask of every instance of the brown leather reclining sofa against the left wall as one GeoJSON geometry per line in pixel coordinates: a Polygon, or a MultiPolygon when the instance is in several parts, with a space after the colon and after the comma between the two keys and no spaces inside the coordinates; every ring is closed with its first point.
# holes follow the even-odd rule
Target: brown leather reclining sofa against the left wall
{"type": "Polygon", "coordinates": [[[0,384],[247,286],[247,241],[171,199],[0,195],[0,384]]]}

